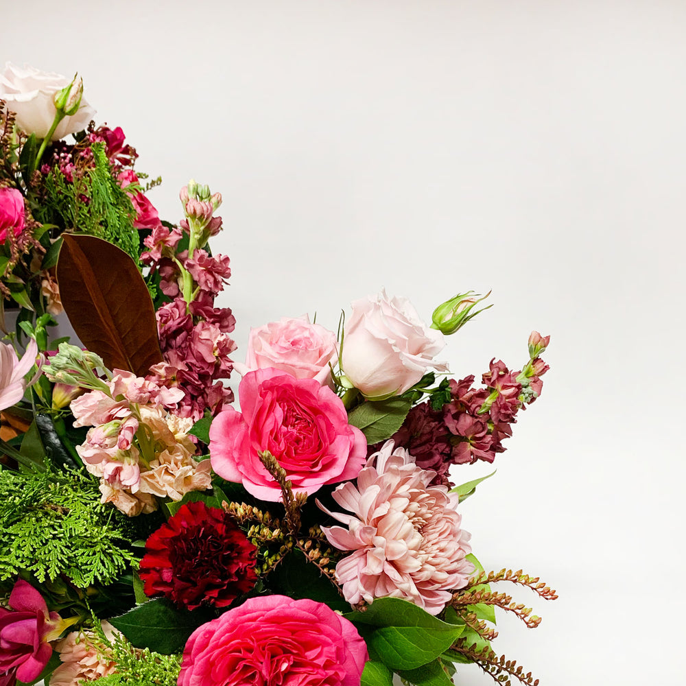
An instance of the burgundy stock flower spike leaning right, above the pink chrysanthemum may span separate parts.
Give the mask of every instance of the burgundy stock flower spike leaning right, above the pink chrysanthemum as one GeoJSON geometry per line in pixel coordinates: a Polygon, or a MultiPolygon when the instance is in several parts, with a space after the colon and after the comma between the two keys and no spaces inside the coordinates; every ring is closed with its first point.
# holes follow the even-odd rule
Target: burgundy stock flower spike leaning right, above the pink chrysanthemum
{"type": "Polygon", "coordinates": [[[541,375],[548,366],[539,355],[549,340],[549,336],[532,333],[530,360],[520,372],[492,359],[482,388],[473,386],[473,375],[451,379],[451,400],[439,410],[431,401],[413,407],[392,437],[395,444],[407,449],[422,469],[436,471],[437,484],[453,485],[448,474],[451,464],[493,462],[496,453],[505,450],[502,441],[512,436],[517,412],[541,394],[541,375]]]}

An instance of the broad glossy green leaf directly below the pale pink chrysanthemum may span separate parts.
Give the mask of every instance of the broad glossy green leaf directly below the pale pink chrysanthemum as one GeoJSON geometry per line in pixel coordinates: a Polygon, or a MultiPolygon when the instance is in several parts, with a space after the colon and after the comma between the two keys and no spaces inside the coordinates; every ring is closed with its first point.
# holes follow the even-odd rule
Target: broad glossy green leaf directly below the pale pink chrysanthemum
{"type": "Polygon", "coordinates": [[[377,598],[365,612],[344,617],[375,627],[366,640],[392,670],[414,670],[435,660],[464,630],[401,598],[377,598]]]}

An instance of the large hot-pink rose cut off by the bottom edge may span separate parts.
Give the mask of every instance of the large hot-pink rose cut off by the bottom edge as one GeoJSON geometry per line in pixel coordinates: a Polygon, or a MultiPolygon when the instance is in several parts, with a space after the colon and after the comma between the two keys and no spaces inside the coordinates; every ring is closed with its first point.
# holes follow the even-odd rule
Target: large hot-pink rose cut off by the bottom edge
{"type": "Polygon", "coordinates": [[[191,634],[178,686],[359,686],[368,659],[352,622],[326,605],[267,595],[191,634]]]}

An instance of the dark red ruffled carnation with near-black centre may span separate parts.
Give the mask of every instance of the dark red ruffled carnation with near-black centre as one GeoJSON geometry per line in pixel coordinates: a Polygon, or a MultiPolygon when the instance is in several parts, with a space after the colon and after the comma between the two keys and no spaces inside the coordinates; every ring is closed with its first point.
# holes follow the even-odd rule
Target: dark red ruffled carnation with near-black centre
{"type": "Polygon", "coordinates": [[[257,549],[226,512],[187,503],[145,543],[140,575],[145,595],[178,606],[226,607],[257,581],[257,549]]]}

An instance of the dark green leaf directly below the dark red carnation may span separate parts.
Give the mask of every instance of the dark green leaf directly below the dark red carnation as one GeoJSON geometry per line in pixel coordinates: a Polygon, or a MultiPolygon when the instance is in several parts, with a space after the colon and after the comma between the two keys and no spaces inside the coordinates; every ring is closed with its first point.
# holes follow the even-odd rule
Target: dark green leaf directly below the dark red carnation
{"type": "Polygon", "coordinates": [[[178,610],[165,598],[148,600],[109,621],[131,641],[134,648],[171,655],[180,652],[201,624],[213,619],[208,611],[178,610]]]}

